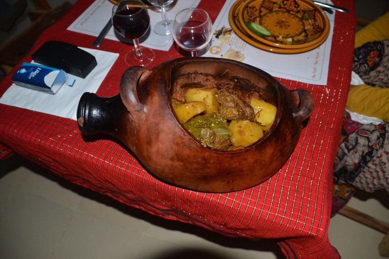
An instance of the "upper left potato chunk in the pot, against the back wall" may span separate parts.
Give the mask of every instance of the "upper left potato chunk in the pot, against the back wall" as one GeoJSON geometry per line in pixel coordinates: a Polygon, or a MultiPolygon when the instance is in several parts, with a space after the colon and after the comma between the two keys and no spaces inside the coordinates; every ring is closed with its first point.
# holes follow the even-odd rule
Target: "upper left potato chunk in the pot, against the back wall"
{"type": "Polygon", "coordinates": [[[207,106],[206,113],[217,112],[220,104],[216,101],[217,89],[199,89],[191,88],[185,93],[186,102],[203,102],[207,106]]]}

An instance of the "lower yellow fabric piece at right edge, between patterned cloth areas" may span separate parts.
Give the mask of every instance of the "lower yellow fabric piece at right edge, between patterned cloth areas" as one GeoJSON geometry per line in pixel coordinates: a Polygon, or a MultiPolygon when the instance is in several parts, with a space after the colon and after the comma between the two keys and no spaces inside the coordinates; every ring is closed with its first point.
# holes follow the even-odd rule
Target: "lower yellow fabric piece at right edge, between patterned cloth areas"
{"type": "Polygon", "coordinates": [[[389,122],[389,88],[357,85],[348,93],[346,107],[350,111],[389,122]]]}

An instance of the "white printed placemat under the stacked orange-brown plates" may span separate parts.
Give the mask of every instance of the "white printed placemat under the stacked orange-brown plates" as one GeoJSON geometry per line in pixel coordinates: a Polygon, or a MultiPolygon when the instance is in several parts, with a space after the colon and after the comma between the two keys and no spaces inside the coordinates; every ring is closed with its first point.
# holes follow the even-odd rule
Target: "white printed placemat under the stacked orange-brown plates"
{"type": "MultiPolygon", "coordinates": [[[[222,26],[230,27],[228,13],[236,0],[227,0],[216,18],[213,29],[218,30],[222,26]]],[[[330,1],[326,3],[331,4],[330,1]]],[[[324,0],[323,0],[324,3],[324,0]]],[[[305,83],[319,85],[327,84],[328,67],[330,62],[330,51],[332,33],[334,28],[334,14],[326,13],[330,20],[330,34],[327,40],[318,48],[300,54],[277,54],[260,50],[241,39],[237,34],[233,34],[227,44],[219,42],[215,35],[212,39],[212,47],[219,46],[221,52],[212,54],[208,51],[204,56],[222,57],[227,50],[233,49],[242,53],[245,58],[244,63],[258,67],[272,76],[292,79],[305,83]]]]}

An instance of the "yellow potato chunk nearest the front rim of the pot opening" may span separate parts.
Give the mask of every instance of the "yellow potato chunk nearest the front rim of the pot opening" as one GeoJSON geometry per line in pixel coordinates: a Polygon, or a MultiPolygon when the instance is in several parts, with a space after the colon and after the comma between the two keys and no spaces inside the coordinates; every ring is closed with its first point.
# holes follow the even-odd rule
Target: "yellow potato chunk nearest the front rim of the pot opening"
{"type": "Polygon", "coordinates": [[[262,128],[249,120],[231,120],[228,130],[232,132],[230,141],[235,147],[247,147],[263,136],[262,128]]]}

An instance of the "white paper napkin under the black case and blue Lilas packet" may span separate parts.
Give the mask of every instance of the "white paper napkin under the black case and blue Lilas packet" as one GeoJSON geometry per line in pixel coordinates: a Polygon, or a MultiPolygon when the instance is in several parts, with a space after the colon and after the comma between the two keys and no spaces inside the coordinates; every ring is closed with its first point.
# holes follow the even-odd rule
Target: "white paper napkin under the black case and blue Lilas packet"
{"type": "MultiPolygon", "coordinates": [[[[12,84],[0,103],[76,120],[77,106],[85,92],[96,93],[119,54],[80,48],[95,56],[97,66],[86,78],[75,77],[72,87],[63,85],[55,94],[47,94],[12,84]]],[[[31,62],[33,63],[33,62],[31,62]]]]}

